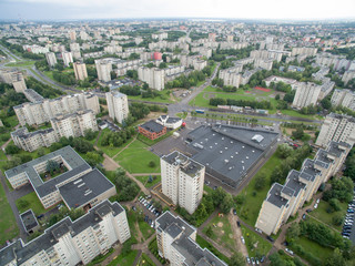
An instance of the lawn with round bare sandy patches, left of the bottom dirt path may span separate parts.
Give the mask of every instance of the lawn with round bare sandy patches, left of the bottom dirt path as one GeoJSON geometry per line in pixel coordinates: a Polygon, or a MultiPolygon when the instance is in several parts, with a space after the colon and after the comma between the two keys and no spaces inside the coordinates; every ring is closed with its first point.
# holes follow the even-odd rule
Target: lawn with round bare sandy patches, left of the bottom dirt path
{"type": "Polygon", "coordinates": [[[234,252],[236,249],[236,243],[233,238],[232,226],[226,215],[224,215],[223,217],[215,216],[210,222],[210,224],[204,227],[204,234],[206,234],[206,231],[210,226],[213,231],[211,239],[215,241],[221,246],[229,248],[231,252],[234,252]]]}

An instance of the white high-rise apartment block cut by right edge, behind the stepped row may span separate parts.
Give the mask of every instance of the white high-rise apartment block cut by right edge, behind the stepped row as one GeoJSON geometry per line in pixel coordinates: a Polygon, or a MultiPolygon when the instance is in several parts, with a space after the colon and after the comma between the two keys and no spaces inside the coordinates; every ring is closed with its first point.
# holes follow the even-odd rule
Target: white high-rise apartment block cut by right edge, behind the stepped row
{"type": "Polygon", "coordinates": [[[326,147],[331,141],[355,143],[355,119],[348,115],[328,114],[321,127],[315,142],[316,145],[326,147]]]}

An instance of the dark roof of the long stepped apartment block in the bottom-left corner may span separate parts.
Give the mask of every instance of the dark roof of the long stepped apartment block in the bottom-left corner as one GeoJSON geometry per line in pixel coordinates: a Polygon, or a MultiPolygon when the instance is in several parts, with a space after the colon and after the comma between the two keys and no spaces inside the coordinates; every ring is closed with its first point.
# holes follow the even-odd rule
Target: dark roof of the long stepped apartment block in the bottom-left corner
{"type": "Polygon", "coordinates": [[[40,250],[47,250],[51,248],[58,243],[58,238],[62,235],[70,233],[72,236],[75,236],[82,231],[87,229],[89,226],[99,224],[102,221],[102,216],[98,214],[98,209],[101,209],[102,207],[110,209],[110,213],[113,212],[114,216],[124,212],[119,203],[104,201],[91,208],[89,213],[74,222],[71,222],[69,217],[65,217],[50,228],[45,229],[42,235],[31,242],[23,244],[21,241],[18,241],[14,244],[1,249],[0,266],[7,265],[7,263],[11,262],[13,258],[17,258],[17,264],[21,265],[40,250]]]}

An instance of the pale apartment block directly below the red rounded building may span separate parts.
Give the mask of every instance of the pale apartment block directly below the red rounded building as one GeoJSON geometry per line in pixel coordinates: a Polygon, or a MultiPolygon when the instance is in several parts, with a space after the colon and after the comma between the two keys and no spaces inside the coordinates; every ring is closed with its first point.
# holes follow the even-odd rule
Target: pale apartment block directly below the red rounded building
{"type": "Polygon", "coordinates": [[[140,66],[138,78],[146,82],[151,89],[162,91],[165,88],[165,71],[162,69],[140,66]]]}

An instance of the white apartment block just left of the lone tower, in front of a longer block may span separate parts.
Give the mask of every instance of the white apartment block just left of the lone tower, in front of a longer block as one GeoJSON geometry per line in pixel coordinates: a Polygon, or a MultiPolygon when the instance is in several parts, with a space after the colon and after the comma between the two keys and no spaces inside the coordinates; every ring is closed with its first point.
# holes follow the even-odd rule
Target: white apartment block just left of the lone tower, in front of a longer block
{"type": "Polygon", "coordinates": [[[87,130],[99,130],[95,114],[92,110],[84,110],[71,114],[58,115],[51,119],[51,124],[59,139],[62,136],[82,136],[85,134],[87,130]]]}

